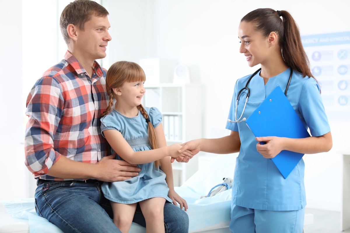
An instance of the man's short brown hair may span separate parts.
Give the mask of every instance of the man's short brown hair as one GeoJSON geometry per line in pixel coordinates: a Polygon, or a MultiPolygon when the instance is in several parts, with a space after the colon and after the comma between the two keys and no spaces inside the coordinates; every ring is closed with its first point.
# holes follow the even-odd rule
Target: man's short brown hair
{"type": "Polygon", "coordinates": [[[109,15],[109,13],[106,8],[91,0],[75,0],[63,9],[59,27],[66,44],[69,43],[70,38],[67,32],[68,24],[73,24],[80,30],[84,30],[85,22],[89,21],[93,15],[104,17],[109,15]]]}

